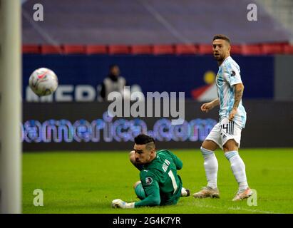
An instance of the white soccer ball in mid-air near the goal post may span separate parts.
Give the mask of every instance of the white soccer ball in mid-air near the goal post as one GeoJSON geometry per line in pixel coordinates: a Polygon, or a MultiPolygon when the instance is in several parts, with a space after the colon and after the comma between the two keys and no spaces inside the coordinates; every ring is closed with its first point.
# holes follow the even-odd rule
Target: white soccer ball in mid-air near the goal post
{"type": "Polygon", "coordinates": [[[50,95],[58,87],[58,78],[50,69],[38,68],[29,77],[29,87],[38,96],[50,95]]]}

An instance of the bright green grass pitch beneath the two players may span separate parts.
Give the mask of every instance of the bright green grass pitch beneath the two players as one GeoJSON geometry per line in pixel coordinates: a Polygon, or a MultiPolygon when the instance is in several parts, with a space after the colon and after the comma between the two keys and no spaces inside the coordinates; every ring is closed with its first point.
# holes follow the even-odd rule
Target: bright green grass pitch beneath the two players
{"type": "MultiPolygon", "coordinates": [[[[192,193],[205,186],[200,150],[171,150],[183,160],[183,186],[192,193]]],[[[113,199],[135,202],[133,183],[139,171],[128,152],[25,152],[23,155],[24,213],[293,213],[293,148],[242,149],[247,180],[257,190],[257,206],[232,202],[237,191],[230,163],[218,150],[220,199],[180,198],[165,207],[113,209],[113,199]],[[35,189],[43,190],[43,207],[34,206],[35,189]]]]}

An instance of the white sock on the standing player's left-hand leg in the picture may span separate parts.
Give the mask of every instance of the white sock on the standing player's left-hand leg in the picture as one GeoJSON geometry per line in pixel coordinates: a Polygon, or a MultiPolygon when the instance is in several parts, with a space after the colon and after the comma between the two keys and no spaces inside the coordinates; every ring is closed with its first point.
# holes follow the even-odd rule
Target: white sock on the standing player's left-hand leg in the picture
{"type": "Polygon", "coordinates": [[[217,157],[212,150],[207,150],[204,147],[200,147],[202,156],[205,159],[203,163],[205,167],[205,175],[207,177],[207,187],[217,187],[217,157]]]}

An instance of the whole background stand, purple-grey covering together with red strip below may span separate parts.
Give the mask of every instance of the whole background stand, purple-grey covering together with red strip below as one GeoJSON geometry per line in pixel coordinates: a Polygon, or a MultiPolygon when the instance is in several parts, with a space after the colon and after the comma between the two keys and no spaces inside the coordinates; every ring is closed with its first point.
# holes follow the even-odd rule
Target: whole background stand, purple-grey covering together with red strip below
{"type": "MultiPolygon", "coordinates": [[[[123,3],[84,0],[74,4],[70,0],[43,0],[46,20],[40,26],[39,22],[24,16],[31,13],[35,4],[28,0],[22,5],[22,50],[23,53],[45,55],[210,55],[211,38],[215,31],[222,31],[232,40],[232,54],[293,53],[289,30],[274,19],[274,14],[268,13],[269,6],[275,8],[274,1],[255,1],[263,2],[263,8],[258,4],[257,23],[242,23],[247,4],[251,2],[237,1],[239,7],[231,9],[230,1],[222,0],[221,9],[229,12],[222,14],[215,7],[216,0],[180,3],[177,0],[125,0],[123,3]],[[205,12],[209,12],[209,16],[205,12]]],[[[285,13],[285,6],[289,5],[289,1],[284,2],[279,14],[285,13]]]]}

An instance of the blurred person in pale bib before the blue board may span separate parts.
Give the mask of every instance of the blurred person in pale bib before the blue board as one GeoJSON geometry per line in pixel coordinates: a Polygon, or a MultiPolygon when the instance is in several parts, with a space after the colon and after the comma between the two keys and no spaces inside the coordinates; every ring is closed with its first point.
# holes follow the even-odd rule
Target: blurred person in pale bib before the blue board
{"type": "Polygon", "coordinates": [[[108,94],[111,92],[119,92],[123,95],[124,86],[127,86],[125,78],[120,76],[119,66],[113,64],[110,66],[109,74],[104,79],[101,86],[101,98],[102,100],[107,100],[108,94]]]}

